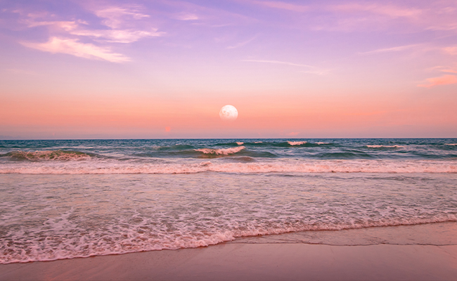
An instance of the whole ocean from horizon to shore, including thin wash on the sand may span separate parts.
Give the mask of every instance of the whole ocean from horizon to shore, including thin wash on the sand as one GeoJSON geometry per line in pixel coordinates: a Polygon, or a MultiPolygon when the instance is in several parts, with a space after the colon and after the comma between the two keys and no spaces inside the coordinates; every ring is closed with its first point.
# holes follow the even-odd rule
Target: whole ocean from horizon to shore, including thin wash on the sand
{"type": "Polygon", "coordinates": [[[456,138],[0,141],[0,263],[229,241],[457,244],[456,222],[456,138]]]}

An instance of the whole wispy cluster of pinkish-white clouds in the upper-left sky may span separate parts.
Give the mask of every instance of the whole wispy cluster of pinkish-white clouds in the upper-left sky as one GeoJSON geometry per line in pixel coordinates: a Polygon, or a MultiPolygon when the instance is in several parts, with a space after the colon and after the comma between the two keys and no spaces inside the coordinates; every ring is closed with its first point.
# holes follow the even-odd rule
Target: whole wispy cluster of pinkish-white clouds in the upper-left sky
{"type": "Polygon", "coordinates": [[[27,13],[18,11],[20,22],[26,27],[47,27],[50,37],[46,43],[20,42],[24,46],[51,53],[67,53],[79,58],[108,60],[123,63],[130,60],[127,55],[115,53],[110,43],[129,44],[145,37],[160,37],[165,32],[155,28],[138,28],[136,21],[149,18],[136,6],[90,9],[105,26],[93,28],[84,20],[56,20],[56,15],[44,12],[27,13]],[[91,43],[82,42],[91,41],[91,43]]]}

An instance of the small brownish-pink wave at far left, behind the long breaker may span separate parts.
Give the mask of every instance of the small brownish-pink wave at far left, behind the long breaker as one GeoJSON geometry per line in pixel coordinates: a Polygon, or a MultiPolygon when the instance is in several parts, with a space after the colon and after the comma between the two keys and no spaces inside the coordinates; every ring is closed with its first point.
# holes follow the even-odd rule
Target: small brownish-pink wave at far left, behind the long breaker
{"type": "Polygon", "coordinates": [[[8,152],[0,157],[9,157],[13,160],[27,160],[27,161],[40,161],[40,160],[82,160],[89,159],[95,156],[93,153],[85,153],[80,151],[70,150],[44,150],[44,151],[13,151],[8,152]]]}

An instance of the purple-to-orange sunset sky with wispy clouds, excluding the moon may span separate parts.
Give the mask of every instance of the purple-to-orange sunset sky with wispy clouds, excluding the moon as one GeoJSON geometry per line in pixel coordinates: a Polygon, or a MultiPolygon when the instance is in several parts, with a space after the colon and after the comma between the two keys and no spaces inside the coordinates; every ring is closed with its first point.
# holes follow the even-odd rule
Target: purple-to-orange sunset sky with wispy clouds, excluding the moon
{"type": "Polygon", "coordinates": [[[0,1],[0,139],[456,137],[455,0],[0,1]]]}

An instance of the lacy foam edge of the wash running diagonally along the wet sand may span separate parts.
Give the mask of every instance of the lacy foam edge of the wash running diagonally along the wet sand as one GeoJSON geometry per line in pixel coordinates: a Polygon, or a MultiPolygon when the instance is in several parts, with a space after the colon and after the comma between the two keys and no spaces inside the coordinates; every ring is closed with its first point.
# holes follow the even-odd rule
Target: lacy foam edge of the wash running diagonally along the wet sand
{"type": "MultiPolygon", "coordinates": [[[[37,237],[23,244],[32,244],[31,251],[24,251],[22,243],[12,243],[0,256],[0,264],[27,263],[31,261],[56,261],[59,259],[86,258],[89,256],[105,256],[110,254],[127,254],[139,251],[155,251],[162,249],[186,249],[207,247],[222,242],[236,240],[238,237],[253,237],[259,235],[278,235],[297,233],[301,231],[319,230],[349,230],[375,228],[386,226],[414,226],[425,223],[456,222],[453,214],[433,216],[430,218],[390,218],[368,221],[348,221],[347,223],[250,223],[242,228],[229,228],[212,231],[192,231],[183,233],[175,230],[171,233],[156,233],[139,229],[116,231],[116,234],[86,233],[84,236],[47,237],[45,240],[37,237]],[[103,237],[103,239],[100,239],[103,237]],[[84,239],[83,239],[84,238],[84,239]],[[18,246],[20,245],[20,246],[18,246]]],[[[23,240],[23,238],[22,238],[23,240]]],[[[323,243],[324,244],[324,243],[323,243]]],[[[5,246],[4,246],[5,247],[5,246]]],[[[0,246],[1,249],[1,246],[0,246]]]]}

